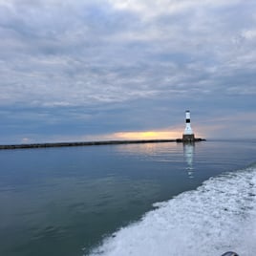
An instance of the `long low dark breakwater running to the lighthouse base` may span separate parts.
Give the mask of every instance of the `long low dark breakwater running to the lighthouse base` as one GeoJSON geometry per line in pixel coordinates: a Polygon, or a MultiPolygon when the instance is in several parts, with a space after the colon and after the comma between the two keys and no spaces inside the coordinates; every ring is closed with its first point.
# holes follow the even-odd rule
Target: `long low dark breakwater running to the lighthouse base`
{"type": "MultiPolygon", "coordinates": [[[[192,142],[206,139],[194,139],[192,142]]],[[[3,149],[26,149],[26,148],[49,148],[49,147],[77,147],[77,146],[97,146],[97,145],[118,145],[118,144],[142,144],[142,143],[163,143],[163,142],[184,142],[182,139],[135,139],[135,140],[103,140],[103,141],[83,141],[83,142],[50,142],[31,144],[0,145],[3,149]]]]}

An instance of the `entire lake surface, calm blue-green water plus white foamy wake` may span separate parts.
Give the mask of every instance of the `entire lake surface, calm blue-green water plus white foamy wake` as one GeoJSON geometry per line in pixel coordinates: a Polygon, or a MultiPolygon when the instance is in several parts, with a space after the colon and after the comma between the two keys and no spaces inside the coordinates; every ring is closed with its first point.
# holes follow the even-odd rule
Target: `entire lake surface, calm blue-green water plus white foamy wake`
{"type": "Polygon", "coordinates": [[[256,140],[0,151],[0,255],[256,254],[256,140]]]}

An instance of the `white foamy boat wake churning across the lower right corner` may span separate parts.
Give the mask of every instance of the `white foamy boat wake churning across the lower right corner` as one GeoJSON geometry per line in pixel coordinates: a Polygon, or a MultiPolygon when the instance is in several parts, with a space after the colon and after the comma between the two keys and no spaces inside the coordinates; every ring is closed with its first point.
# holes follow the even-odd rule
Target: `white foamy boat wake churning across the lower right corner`
{"type": "Polygon", "coordinates": [[[119,229],[90,255],[256,254],[256,165],[204,181],[119,229]]]}

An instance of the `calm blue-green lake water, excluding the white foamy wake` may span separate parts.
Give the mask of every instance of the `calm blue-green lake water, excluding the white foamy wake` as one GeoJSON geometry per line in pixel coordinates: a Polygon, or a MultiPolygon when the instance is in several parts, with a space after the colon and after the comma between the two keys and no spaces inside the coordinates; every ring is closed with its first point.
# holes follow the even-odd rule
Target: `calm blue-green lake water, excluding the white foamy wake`
{"type": "Polygon", "coordinates": [[[84,255],[210,177],[254,163],[255,140],[0,151],[0,255],[84,255]]]}

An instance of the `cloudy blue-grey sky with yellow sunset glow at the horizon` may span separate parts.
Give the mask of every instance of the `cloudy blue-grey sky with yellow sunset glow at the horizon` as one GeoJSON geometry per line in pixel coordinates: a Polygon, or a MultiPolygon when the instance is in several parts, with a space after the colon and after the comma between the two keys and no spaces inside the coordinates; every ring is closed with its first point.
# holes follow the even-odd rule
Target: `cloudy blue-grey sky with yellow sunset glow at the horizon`
{"type": "Polygon", "coordinates": [[[0,144],[256,138],[255,0],[0,0],[0,144]]]}

